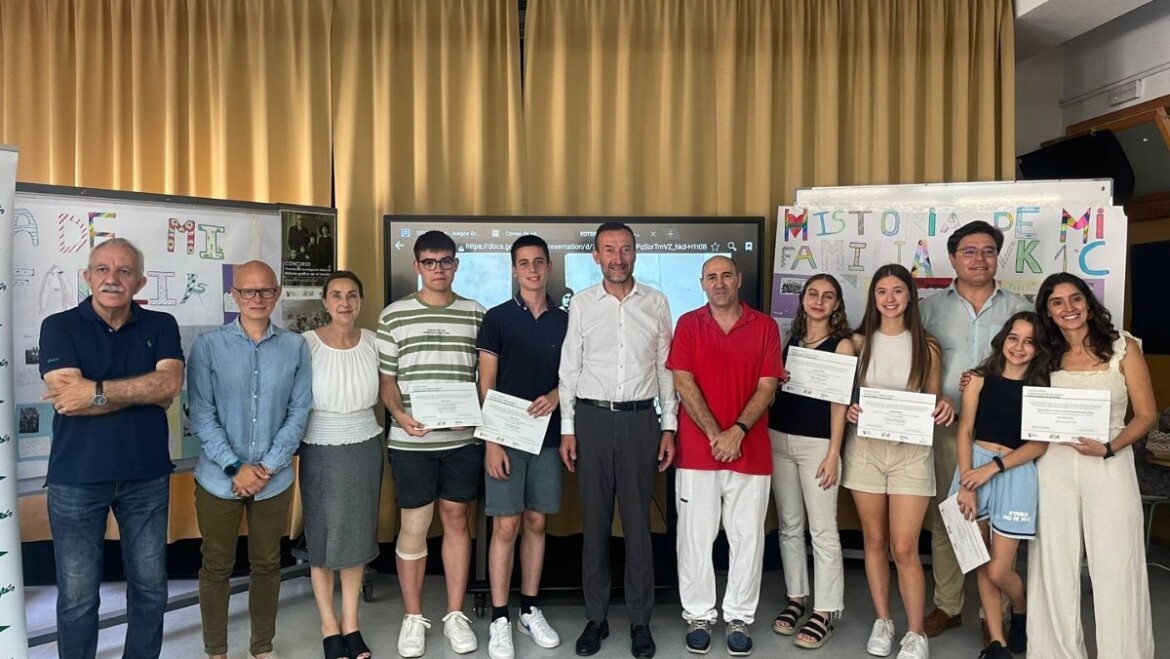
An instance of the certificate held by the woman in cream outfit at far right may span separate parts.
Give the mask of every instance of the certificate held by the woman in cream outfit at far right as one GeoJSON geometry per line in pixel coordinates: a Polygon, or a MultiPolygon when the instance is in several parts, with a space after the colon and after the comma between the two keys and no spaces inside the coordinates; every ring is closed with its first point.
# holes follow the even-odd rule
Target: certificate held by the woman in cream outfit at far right
{"type": "Polygon", "coordinates": [[[1020,437],[1035,441],[1109,441],[1109,392],[1025,386],[1020,437]]]}

